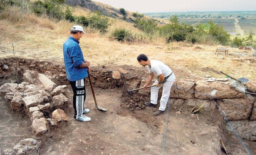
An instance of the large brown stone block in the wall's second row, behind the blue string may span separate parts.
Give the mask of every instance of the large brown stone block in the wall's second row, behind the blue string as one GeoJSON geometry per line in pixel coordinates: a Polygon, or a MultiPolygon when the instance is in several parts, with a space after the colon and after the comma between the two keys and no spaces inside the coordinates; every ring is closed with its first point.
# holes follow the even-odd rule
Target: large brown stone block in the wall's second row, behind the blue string
{"type": "Polygon", "coordinates": [[[244,98],[217,100],[218,106],[228,120],[247,120],[253,108],[254,98],[245,95],[244,98]]]}

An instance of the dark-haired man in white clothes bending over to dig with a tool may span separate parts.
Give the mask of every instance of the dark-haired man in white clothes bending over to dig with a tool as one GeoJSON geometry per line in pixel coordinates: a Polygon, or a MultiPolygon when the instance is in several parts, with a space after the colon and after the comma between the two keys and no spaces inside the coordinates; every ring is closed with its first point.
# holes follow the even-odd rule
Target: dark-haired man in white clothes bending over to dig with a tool
{"type": "Polygon", "coordinates": [[[144,89],[146,89],[146,87],[152,81],[154,74],[158,75],[157,80],[153,84],[157,86],[151,87],[150,102],[145,102],[144,104],[146,106],[157,107],[158,90],[163,86],[163,93],[160,99],[159,110],[154,112],[154,115],[161,115],[166,109],[166,104],[169,100],[172,84],[174,83],[176,77],[172,69],[170,69],[161,61],[149,60],[148,57],[144,54],[139,55],[137,60],[140,65],[146,66],[148,68],[148,81],[143,86],[144,89]]]}

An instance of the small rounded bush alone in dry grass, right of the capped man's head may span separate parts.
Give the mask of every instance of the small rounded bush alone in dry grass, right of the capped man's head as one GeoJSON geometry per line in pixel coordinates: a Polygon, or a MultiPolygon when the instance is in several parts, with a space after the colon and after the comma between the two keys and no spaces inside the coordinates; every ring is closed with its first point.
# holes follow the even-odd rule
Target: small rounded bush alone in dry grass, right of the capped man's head
{"type": "Polygon", "coordinates": [[[124,42],[124,41],[132,42],[135,39],[133,34],[129,30],[126,30],[124,28],[115,29],[111,33],[110,38],[120,41],[120,42],[124,42]]]}

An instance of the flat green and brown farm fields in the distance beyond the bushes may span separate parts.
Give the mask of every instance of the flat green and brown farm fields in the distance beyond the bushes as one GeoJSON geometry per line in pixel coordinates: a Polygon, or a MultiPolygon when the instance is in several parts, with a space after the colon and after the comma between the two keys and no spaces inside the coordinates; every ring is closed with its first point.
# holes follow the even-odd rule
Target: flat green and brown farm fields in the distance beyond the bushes
{"type": "MultiPolygon", "coordinates": [[[[236,20],[234,18],[218,18],[218,19],[207,19],[207,18],[180,18],[178,19],[180,24],[186,23],[187,25],[197,26],[198,24],[208,23],[209,20],[212,20],[213,23],[223,26],[223,29],[228,33],[239,33],[236,30],[235,24],[236,20]]],[[[250,19],[239,19],[239,25],[241,29],[248,35],[250,30],[253,30],[253,33],[256,34],[256,18],[250,19]]]]}

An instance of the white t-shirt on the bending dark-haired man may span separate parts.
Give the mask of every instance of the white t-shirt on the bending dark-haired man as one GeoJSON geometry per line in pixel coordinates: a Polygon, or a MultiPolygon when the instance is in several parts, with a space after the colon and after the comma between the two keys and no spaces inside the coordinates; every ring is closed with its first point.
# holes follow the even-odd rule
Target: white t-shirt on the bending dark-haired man
{"type": "Polygon", "coordinates": [[[151,67],[147,65],[148,72],[154,72],[157,75],[163,74],[164,77],[170,75],[172,73],[172,69],[166,66],[164,63],[158,60],[150,60],[151,67]]]}

